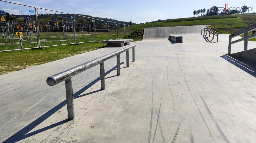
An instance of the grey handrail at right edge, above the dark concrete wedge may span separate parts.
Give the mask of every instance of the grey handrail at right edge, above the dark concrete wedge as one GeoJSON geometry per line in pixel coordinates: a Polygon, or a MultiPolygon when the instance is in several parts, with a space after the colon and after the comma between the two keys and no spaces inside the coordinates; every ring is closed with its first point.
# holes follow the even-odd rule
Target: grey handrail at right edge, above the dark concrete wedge
{"type": "Polygon", "coordinates": [[[256,34],[252,34],[251,36],[248,36],[248,32],[250,31],[253,31],[256,29],[256,23],[255,24],[252,24],[251,26],[248,26],[244,29],[241,29],[235,33],[232,33],[229,35],[229,40],[228,40],[228,54],[231,53],[231,44],[234,44],[234,43],[237,43],[237,42],[240,42],[240,41],[244,41],[244,51],[248,49],[248,39],[251,39],[253,37],[256,36],[256,34]],[[244,38],[241,38],[241,39],[238,39],[238,40],[235,40],[235,41],[232,41],[232,38],[236,37],[236,36],[239,36],[239,35],[242,35],[244,34],[244,38]]]}

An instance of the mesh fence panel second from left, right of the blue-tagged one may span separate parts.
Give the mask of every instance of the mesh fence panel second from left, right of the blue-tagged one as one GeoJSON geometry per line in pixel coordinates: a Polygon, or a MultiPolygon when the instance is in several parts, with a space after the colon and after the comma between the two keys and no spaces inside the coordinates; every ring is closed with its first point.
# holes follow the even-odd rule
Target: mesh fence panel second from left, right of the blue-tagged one
{"type": "Polygon", "coordinates": [[[74,15],[55,10],[37,8],[39,22],[40,47],[75,43],[74,15]]]}

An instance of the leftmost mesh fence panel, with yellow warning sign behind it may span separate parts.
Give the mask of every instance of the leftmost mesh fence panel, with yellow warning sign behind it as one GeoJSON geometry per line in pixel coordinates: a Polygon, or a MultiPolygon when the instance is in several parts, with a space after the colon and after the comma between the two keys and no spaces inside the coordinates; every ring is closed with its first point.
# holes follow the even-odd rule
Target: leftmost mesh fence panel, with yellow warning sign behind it
{"type": "Polygon", "coordinates": [[[23,48],[38,46],[35,7],[0,0],[0,18],[0,51],[20,49],[18,32],[23,38],[23,48]]]}

